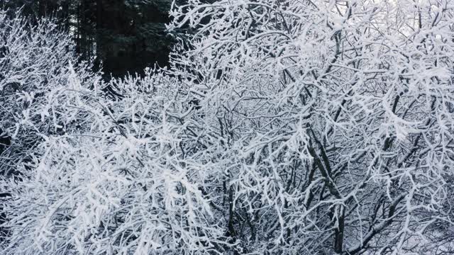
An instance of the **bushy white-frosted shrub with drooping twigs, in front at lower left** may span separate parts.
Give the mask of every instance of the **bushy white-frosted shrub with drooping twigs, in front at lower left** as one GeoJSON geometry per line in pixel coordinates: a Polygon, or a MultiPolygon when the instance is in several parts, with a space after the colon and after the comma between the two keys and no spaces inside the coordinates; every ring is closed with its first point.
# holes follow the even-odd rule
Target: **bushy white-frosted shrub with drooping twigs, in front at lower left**
{"type": "Polygon", "coordinates": [[[124,97],[112,100],[70,77],[49,92],[49,107],[83,128],[43,135],[21,181],[1,182],[11,194],[5,253],[220,251],[223,232],[201,191],[211,169],[178,149],[190,128],[179,123],[177,81],[150,70],[113,80],[124,97]]]}

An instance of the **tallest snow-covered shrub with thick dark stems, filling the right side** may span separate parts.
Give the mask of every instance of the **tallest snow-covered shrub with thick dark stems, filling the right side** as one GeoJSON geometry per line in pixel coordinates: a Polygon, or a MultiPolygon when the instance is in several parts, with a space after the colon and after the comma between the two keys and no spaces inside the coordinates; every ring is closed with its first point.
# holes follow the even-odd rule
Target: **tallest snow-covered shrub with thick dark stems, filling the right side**
{"type": "Polygon", "coordinates": [[[197,30],[174,64],[222,147],[205,161],[236,248],[453,242],[453,1],[207,2],[174,6],[170,28],[197,30]]]}

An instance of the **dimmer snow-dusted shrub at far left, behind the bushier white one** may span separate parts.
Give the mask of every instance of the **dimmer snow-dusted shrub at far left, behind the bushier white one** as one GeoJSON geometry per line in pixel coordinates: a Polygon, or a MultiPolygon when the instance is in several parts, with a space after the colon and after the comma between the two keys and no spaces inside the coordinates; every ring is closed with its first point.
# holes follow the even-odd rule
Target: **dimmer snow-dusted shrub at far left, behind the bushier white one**
{"type": "MultiPolygon", "coordinates": [[[[72,40],[51,21],[32,25],[20,13],[10,17],[0,11],[1,175],[28,159],[41,134],[65,132],[56,118],[60,113],[45,105],[52,89],[67,85],[70,62],[77,63],[72,40]]],[[[99,79],[84,63],[76,72],[84,82],[99,79]]]]}

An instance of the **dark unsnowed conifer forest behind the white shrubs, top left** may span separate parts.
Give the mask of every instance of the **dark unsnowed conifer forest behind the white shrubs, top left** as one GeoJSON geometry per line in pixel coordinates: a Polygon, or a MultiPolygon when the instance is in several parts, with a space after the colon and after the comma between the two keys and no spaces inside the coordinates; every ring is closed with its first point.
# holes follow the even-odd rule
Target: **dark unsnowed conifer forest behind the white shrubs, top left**
{"type": "Polygon", "coordinates": [[[167,65],[172,40],[165,31],[170,0],[14,0],[11,15],[22,8],[31,18],[48,17],[70,31],[81,60],[95,61],[105,77],[143,72],[167,65]]]}

